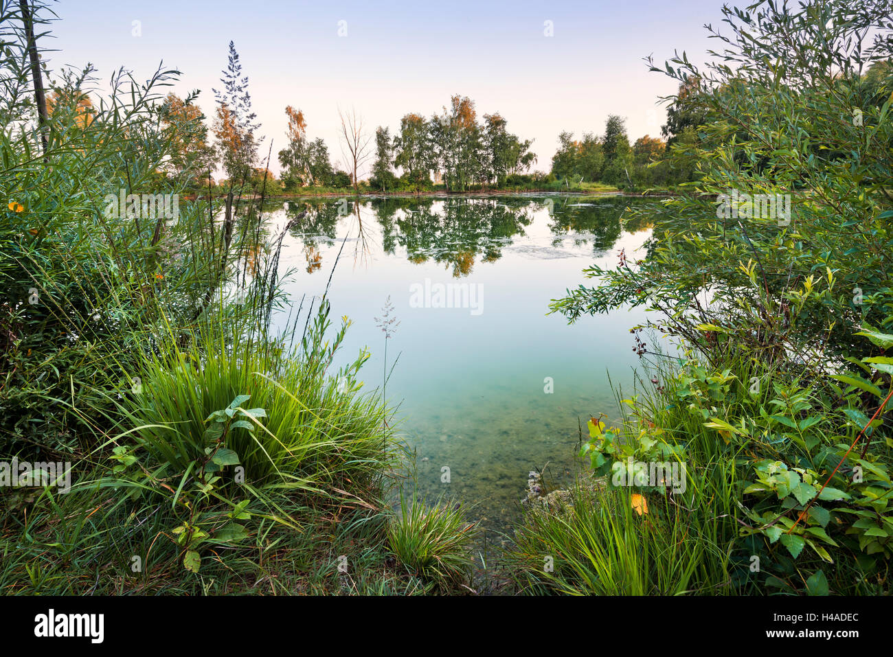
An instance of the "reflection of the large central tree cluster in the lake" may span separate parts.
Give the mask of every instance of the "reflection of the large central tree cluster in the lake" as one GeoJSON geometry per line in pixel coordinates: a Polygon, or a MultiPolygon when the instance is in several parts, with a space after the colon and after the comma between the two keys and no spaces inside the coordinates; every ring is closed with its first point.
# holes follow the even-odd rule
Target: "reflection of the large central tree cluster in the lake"
{"type": "Polygon", "coordinates": [[[475,257],[494,262],[500,249],[532,221],[530,200],[505,198],[380,198],[372,201],[388,254],[406,249],[410,262],[433,259],[453,276],[471,273],[475,257]],[[400,212],[398,212],[400,211],[400,212]]]}

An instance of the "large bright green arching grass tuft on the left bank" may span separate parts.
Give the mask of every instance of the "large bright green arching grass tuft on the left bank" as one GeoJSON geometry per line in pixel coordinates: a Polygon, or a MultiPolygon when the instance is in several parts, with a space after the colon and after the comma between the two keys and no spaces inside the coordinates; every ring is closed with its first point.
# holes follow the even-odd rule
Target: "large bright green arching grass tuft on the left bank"
{"type": "Polygon", "coordinates": [[[139,427],[139,445],[154,461],[183,471],[203,455],[208,416],[250,395],[248,405],[265,412],[262,426],[236,428],[227,437],[247,479],[257,486],[368,490],[375,503],[390,463],[388,411],[377,397],[358,394],[367,353],[330,375],[346,324],[327,348],[327,318],[325,304],[307,351],[217,322],[185,349],[149,354],[139,370],[142,392],[128,395],[125,407],[129,423],[139,427]]]}

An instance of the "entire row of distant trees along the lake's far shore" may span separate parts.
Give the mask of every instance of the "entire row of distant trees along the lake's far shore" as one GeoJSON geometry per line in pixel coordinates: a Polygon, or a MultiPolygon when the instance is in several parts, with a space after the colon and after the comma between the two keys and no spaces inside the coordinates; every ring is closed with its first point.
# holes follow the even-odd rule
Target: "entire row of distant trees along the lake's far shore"
{"type": "Polygon", "coordinates": [[[702,81],[692,76],[670,99],[660,137],[645,135],[630,144],[624,119],[611,114],[602,135],[584,132],[575,139],[572,132],[561,132],[551,170],[530,172],[537,162],[530,150],[532,140],[509,132],[505,117],[498,112],[484,114],[479,121],[470,98],[452,96],[448,106],[430,117],[405,114],[393,134],[381,126],[374,134],[366,132],[356,112],[339,112],[343,157],[338,167],[332,163],[326,142],[308,134],[304,113],[288,105],[287,145],[278,153],[281,177],[277,180],[269,162],[266,167],[260,165],[262,139],[255,136],[259,125],[251,108],[247,77],[242,75],[231,42],[221,83],[222,89],[214,90],[213,146],[208,143],[204,114],[194,104],[195,95],[181,100],[170,94],[162,109],[164,128],[179,136],[179,152],[171,157],[169,168],[193,171],[196,187],[213,184],[211,171],[220,166],[224,178],[218,184],[230,189],[358,189],[366,162],[371,162],[368,187],[388,192],[435,186],[456,192],[472,188],[558,190],[586,188],[587,183],[626,189],[669,187],[696,177],[697,153],[705,146],[704,131],[698,127],[716,120],[704,102],[702,81]],[[671,158],[671,150],[690,156],[671,158]]]}

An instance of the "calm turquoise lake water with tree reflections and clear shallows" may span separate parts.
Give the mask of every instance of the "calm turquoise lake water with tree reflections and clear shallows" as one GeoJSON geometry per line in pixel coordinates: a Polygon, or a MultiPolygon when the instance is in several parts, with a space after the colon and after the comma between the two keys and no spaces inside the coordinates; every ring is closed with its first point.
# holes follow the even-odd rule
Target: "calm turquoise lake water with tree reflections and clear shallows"
{"type": "MultiPolygon", "coordinates": [[[[347,315],[353,326],[336,364],[368,346],[369,390],[382,383],[385,336],[375,318],[390,297],[399,325],[388,370],[398,360],[387,396],[415,451],[418,487],[432,501],[473,504],[472,519],[500,531],[520,512],[530,470],[572,478],[580,423],[585,434],[590,415],[616,416],[608,373],[614,387],[631,389],[639,361],[630,327],[645,312],[575,325],[547,312],[587,282],[582,270],[593,262],[613,266],[621,249],[644,257],[650,227],[622,229],[619,220],[633,203],[657,204],[617,195],[317,198],[274,206],[273,224],[309,210],[280,260],[292,302],[306,295],[304,312],[346,238],[329,299],[333,323],[347,315]],[[438,307],[449,295],[454,307],[438,307]]],[[[287,321],[287,313],[277,320],[287,321]]]]}

